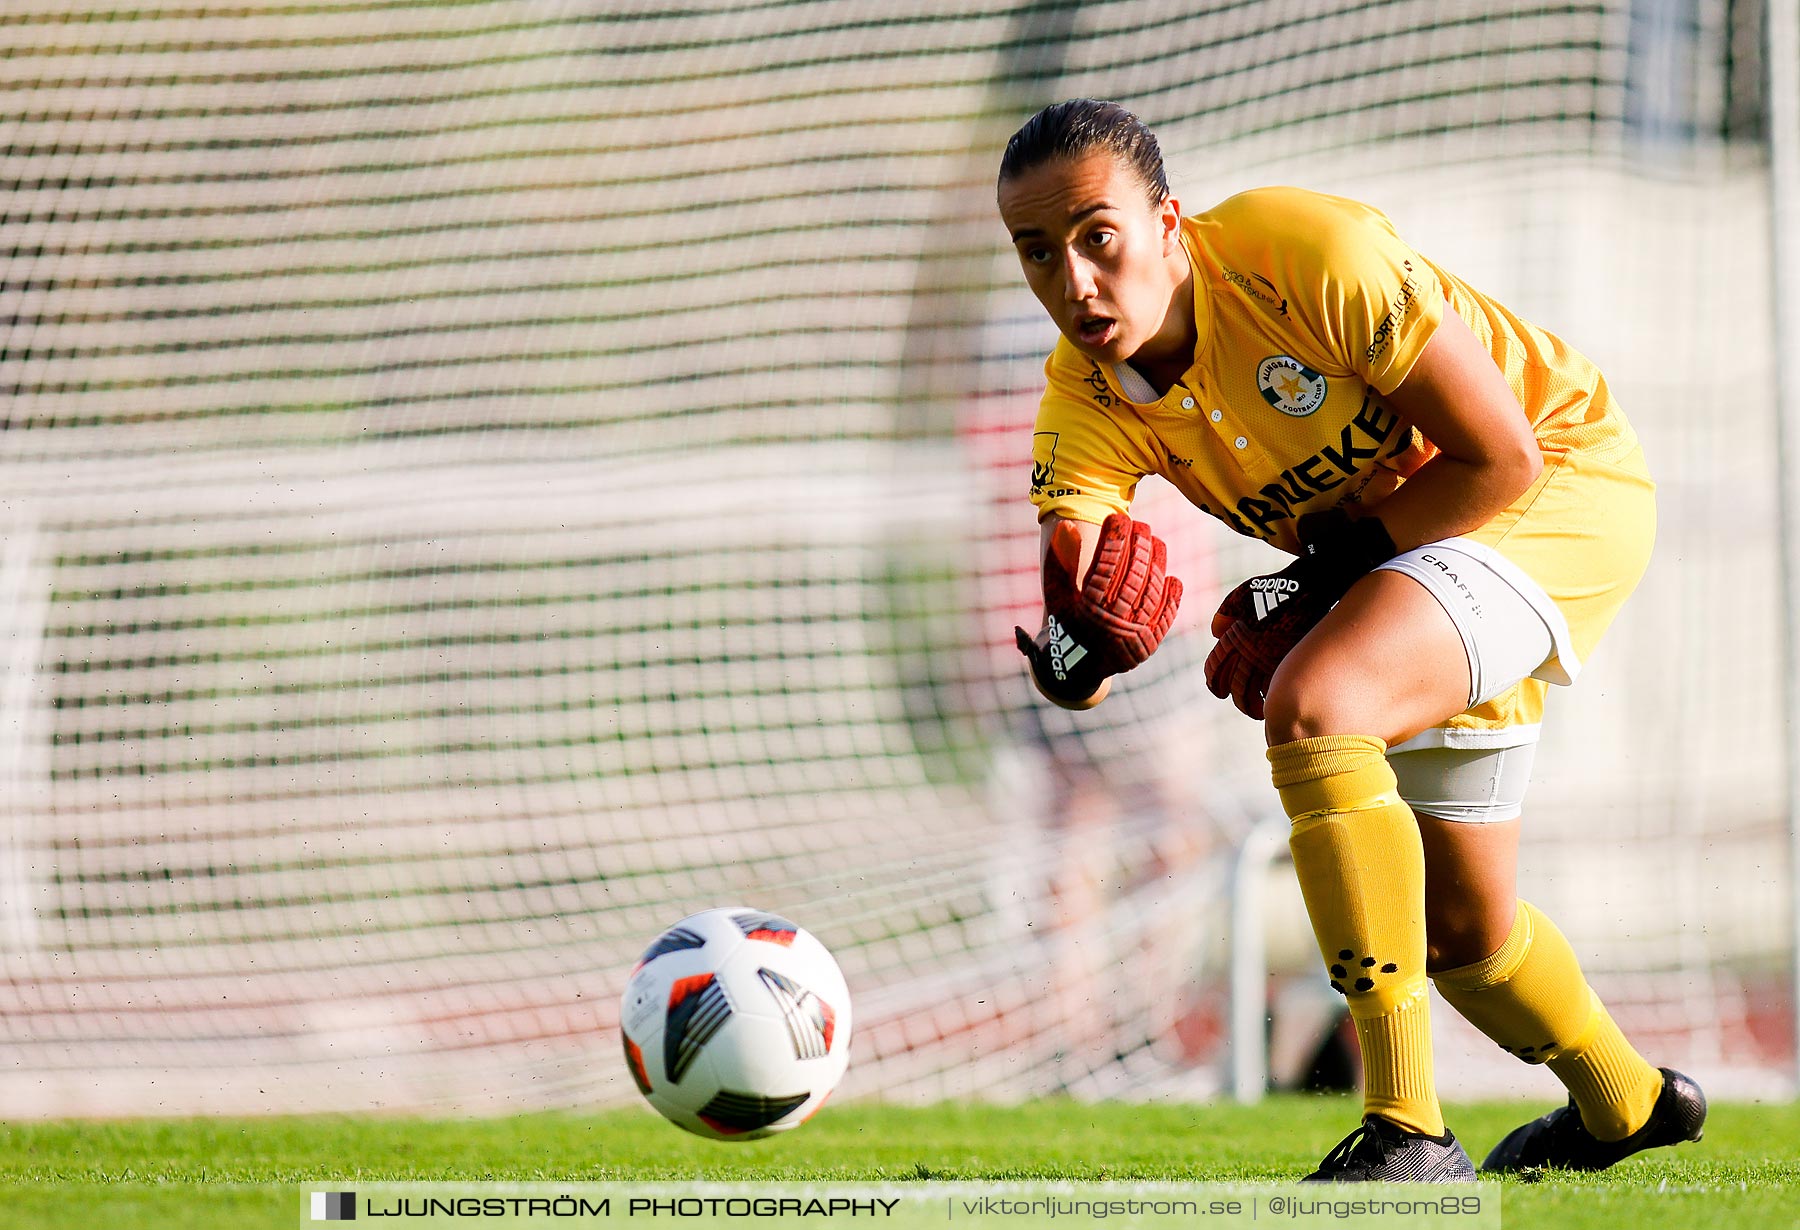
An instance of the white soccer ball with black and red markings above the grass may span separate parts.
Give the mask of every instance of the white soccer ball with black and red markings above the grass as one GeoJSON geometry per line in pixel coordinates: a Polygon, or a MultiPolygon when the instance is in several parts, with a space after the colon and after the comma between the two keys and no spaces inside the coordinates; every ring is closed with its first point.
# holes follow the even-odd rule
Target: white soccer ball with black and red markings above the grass
{"type": "Polygon", "coordinates": [[[850,990],[808,931],[727,906],[682,918],[632,967],[625,1066],[677,1127],[756,1140],[806,1122],[850,1063],[850,990]]]}

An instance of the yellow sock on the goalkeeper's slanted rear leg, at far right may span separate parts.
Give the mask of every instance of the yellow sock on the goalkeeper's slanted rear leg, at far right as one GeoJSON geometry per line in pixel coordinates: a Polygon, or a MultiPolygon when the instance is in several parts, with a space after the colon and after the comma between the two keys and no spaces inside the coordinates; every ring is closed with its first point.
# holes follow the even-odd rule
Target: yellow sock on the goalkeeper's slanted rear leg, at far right
{"type": "Polygon", "coordinates": [[[1433,981],[1501,1050],[1548,1064],[1600,1140],[1624,1140],[1649,1120],[1663,1075],[1625,1041],[1582,976],[1575,949],[1528,900],[1492,956],[1433,981]]]}

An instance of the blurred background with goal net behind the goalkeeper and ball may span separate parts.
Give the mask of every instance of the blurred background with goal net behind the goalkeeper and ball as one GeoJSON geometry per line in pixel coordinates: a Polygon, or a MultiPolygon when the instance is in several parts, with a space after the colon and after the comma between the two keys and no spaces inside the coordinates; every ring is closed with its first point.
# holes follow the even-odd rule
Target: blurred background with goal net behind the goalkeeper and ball
{"type": "MultiPolygon", "coordinates": [[[[839,1097],[1226,1091],[1244,927],[1300,1081],[1336,998],[1199,679],[1269,558],[1152,479],[1174,639],[1080,719],[1012,648],[1055,333],[994,173],[1082,94],[1604,367],[1661,537],[1521,891],[1654,1063],[1791,1093],[1768,5],[5,5],[5,1113],[634,1100],[632,960],[738,902],[844,965],[839,1097]]],[[[1435,1016],[1449,1095],[1561,1100],[1435,1016]]]]}

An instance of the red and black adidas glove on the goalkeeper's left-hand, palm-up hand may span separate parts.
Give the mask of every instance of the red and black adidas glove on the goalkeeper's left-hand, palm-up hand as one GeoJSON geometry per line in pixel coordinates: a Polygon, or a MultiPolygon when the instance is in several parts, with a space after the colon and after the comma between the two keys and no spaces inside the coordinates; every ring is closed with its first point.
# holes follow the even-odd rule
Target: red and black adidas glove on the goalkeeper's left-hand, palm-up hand
{"type": "Polygon", "coordinates": [[[1064,520],[1044,555],[1044,630],[1033,638],[1013,629],[1037,686],[1071,706],[1150,657],[1181,607],[1168,547],[1141,520],[1112,513],[1102,522],[1094,562],[1076,587],[1080,558],[1082,535],[1064,520]]]}

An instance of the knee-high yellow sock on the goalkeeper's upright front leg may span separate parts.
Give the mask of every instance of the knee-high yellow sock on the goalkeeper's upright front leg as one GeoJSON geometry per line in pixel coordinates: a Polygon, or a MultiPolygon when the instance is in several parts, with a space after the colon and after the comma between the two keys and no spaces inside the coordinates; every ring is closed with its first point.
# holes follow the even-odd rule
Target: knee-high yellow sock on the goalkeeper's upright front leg
{"type": "Polygon", "coordinates": [[[1388,746],[1361,735],[1269,749],[1312,933],[1363,1046],[1363,1111],[1444,1135],[1426,996],[1426,852],[1388,746]]]}

